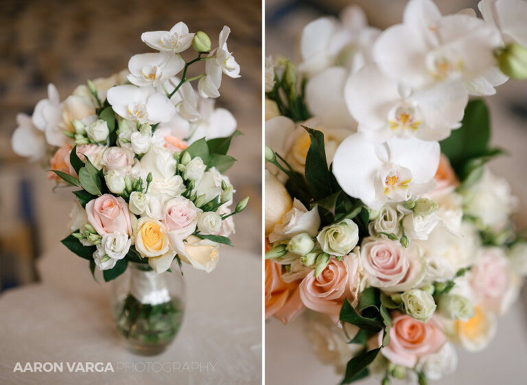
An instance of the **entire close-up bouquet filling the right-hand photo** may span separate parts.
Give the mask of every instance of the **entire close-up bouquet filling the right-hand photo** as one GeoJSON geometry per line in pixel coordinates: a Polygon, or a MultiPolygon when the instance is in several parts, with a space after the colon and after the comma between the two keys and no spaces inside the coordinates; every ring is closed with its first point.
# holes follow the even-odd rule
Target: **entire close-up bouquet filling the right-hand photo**
{"type": "Polygon", "coordinates": [[[469,100],[527,78],[527,2],[479,8],[410,0],[381,32],[351,7],[304,28],[298,67],[266,61],[266,318],[310,310],[342,384],[452,373],[527,274],[516,200],[486,165],[502,150],[469,100]]]}

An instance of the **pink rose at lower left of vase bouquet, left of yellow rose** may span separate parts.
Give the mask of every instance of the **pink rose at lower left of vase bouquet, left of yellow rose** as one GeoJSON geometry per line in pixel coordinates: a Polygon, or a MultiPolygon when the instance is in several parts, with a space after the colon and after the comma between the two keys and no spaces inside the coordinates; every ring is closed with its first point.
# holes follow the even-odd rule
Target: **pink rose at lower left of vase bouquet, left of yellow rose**
{"type": "Polygon", "coordinates": [[[128,205],[123,198],[104,194],[86,203],[88,222],[99,233],[105,235],[124,231],[132,234],[128,205]]]}

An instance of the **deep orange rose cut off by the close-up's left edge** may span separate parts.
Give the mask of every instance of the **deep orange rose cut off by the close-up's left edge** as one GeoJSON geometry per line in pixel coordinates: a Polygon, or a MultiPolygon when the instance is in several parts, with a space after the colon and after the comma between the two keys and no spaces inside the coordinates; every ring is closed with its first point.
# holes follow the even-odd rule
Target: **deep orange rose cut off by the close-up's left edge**
{"type": "Polygon", "coordinates": [[[300,312],[304,305],[300,300],[298,281],[285,283],[282,266],[266,260],[266,319],[274,316],[285,325],[300,312]]]}

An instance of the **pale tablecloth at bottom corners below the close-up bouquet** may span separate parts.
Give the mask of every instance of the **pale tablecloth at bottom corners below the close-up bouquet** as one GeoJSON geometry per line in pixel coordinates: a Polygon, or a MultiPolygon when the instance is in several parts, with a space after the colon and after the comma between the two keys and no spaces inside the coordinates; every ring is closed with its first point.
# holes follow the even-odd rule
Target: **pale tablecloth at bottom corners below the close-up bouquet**
{"type": "MultiPolygon", "coordinates": [[[[513,385],[527,384],[527,322],[525,307],[515,303],[500,318],[497,334],[484,351],[469,353],[458,348],[458,369],[430,385],[513,385]]],[[[342,380],[333,366],[321,364],[296,318],[288,325],[272,319],[266,323],[266,384],[336,385],[342,380]]],[[[379,385],[368,378],[357,385],[379,385]]],[[[394,385],[403,384],[394,380],[394,385]]]]}

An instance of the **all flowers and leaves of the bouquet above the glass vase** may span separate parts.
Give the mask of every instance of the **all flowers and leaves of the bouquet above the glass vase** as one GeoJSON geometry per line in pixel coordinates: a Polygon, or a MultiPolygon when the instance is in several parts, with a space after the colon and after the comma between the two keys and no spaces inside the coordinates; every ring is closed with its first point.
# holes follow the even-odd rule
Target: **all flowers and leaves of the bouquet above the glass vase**
{"type": "Polygon", "coordinates": [[[232,208],[233,186],[222,173],[235,161],[226,153],[239,132],[233,115],[209,99],[220,95],[222,73],[239,77],[229,33],[224,27],[211,50],[207,34],[182,22],[145,32],[158,52],[132,56],[128,71],[89,80],[62,102],[50,84],[32,117],[18,117],[14,151],[38,160],[51,150],[49,178],[80,187],[73,232],[62,243],[89,259],[92,272],[104,270],[106,281],[128,261],[161,273],[177,259],[210,272],[218,244],[232,246],[232,215],[248,198],[232,208]],[[191,46],[197,58],[185,62],[191,46]],[[202,61],[204,73],[187,78],[202,61]]]}

